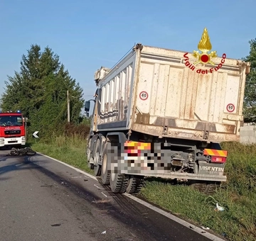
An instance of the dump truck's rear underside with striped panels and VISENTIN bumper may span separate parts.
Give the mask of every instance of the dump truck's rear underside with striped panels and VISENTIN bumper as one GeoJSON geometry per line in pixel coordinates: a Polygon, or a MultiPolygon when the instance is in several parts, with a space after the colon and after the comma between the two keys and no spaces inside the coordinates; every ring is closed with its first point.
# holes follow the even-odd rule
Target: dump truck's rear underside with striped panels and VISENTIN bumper
{"type": "Polygon", "coordinates": [[[227,181],[224,175],[225,163],[210,162],[208,158],[209,155],[226,156],[227,153],[224,150],[205,149],[204,155],[202,151],[202,155],[199,155],[198,150],[189,149],[191,159],[188,159],[188,152],[184,151],[186,149],[181,149],[179,152],[171,150],[171,144],[168,142],[155,142],[152,145],[150,142],[127,141],[118,145],[109,142],[107,145],[109,145],[107,169],[110,173],[182,179],[183,181],[227,181]],[[192,159],[195,152],[198,155],[197,159],[192,159]],[[181,163],[183,164],[178,166],[181,163]]]}

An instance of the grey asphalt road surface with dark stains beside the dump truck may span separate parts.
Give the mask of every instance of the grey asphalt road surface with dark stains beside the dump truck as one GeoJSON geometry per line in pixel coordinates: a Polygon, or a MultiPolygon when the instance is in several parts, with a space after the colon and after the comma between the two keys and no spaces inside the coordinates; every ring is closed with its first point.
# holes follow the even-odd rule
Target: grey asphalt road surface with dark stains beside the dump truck
{"type": "Polygon", "coordinates": [[[47,157],[0,150],[0,241],[209,240],[47,157]]]}

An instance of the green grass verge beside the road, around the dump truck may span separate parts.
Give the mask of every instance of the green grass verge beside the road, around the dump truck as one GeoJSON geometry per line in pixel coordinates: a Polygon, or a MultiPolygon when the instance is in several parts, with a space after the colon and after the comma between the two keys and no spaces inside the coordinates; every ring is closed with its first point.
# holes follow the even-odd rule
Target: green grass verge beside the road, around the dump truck
{"type": "MultiPolygon", "coordinates": [[[[93,174],[85,158],[86,142],[78,135],[63,136],[51,142],[37,142],[33,150],[93,174]]],[[[206,196],[184,185],[146,181],[142,198],[193,223],[210,228],[232,241],[256,240],[256,145],[225,143],[228,181],[213,196],[206,196]],[[218,203],[223,212],[214,211],[218,203]]]]}

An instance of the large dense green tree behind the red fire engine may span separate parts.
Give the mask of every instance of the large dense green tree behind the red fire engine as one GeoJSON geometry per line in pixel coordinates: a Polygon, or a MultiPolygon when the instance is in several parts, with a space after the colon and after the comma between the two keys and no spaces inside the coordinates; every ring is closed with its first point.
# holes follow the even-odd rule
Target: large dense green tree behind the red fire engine
{"type": "Polygon", "coordinates": [[[83,106],[82,89],[60,63],[58,55],[46,47],[31,45],[22,55],[20,72],[8,76],[1,97],[3,111],[20,109],[31,122],[31,129],[41,135],[58,133],[67,122],[67,90],[70,99],[70,121],[78,123],[83,106]]]}

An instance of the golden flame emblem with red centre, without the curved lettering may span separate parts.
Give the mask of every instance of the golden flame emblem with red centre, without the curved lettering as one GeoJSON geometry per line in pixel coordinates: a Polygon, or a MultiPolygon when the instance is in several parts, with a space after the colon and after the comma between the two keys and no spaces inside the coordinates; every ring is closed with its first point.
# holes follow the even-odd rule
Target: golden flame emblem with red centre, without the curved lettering
{"type": "Polygon", "coordinates": [[[208,63],[210,65],[215,65],[214,62],[212,62],[212,60],[215,57],[217,57],[217,52],[216,51],[210,52],[211,49],[212,49],[212,45],[210,43],[210,37],[208,35],[207,29],[205,28],[203,30],[202,38],[198,43],[198,50],[200,50],[201,53],[196,50],[193,50],[193,57],[197,59],[196,62],[194,62],[193,64],[198,65],[201,62],[201,64],[203,65],[206,65],[208,63]]]}

